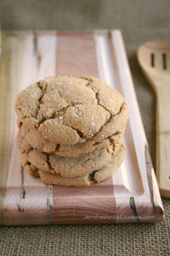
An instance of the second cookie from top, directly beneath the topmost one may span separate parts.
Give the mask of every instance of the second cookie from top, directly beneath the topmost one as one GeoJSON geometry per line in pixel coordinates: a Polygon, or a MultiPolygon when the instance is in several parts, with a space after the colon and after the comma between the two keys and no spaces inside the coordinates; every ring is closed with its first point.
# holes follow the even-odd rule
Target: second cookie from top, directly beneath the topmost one
{"type": "Polygon", "coordinates": [[[42,136],[42,134],[40,134],[40,132],[29,128],[26,124],[21,124],[19,121],[18,124],[19,128],[21,129],[22,136],[28,141],[29,144],[31,144],[34,149],[38,149],[45,153],[53,153],[66,157],[76,157],[78,155],[87,154],[94,150],[104,149],[111,145],[115,145],[121,139],[125,131],[125,126],[123,126],[120,131],[117,131],[115,134],[100,142],[95,142],[89,139],[84,143],[64,145],[47,140],[42,136]]]}

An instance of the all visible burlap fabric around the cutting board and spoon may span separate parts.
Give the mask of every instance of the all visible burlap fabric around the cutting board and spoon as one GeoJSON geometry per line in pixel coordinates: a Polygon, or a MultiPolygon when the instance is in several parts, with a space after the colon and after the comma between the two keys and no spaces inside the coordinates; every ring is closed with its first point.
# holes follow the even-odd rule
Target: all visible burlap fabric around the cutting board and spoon
{"type": "MultiPolygon", "coordinates": [[[[136,51],[170,40],[170,1],[1,0],[0,12],[1,29],[121,29],[155,168],[155,94],[136,51]]],[[[0,255],[170,255],[170,200],[162,201],[161,223],[0,227],[0,255]]]]}

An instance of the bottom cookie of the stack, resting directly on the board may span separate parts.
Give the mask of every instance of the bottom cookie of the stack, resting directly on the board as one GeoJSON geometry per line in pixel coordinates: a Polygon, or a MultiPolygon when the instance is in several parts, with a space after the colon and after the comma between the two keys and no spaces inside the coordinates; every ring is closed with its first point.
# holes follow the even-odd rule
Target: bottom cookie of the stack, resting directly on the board
{"type": "Polygon", "coordinates": [[[41,181],[45,184],[62,186],[89,186],[94,182],[99,183],[112,176],[112,174],[116,172],[118,167],[123,162],[125,155],[125,146],[121,145],[117,154],[112,157],[111,161],[107,165],[86,175],[72,178],[62,177],[60,174],[49,173],[47,171],[38,169],[34,165],[30,164],[26,159],[23,159],[23,157],[20,158],[20,162],[32,177],[40,177],[41,181]]]}

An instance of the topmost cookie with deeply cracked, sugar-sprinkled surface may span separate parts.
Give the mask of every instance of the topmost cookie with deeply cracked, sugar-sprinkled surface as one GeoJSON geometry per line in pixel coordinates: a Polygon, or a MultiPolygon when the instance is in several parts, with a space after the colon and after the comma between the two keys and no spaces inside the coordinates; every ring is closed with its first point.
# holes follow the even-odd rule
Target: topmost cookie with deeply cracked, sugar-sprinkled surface
{"type": "Polygon", "coordinates": [[[73,145],[101,141],[126,124],[123,96],[101,79],[47,77],[21,91],[15,102],[19,119],[46,139],[73,145]]]}

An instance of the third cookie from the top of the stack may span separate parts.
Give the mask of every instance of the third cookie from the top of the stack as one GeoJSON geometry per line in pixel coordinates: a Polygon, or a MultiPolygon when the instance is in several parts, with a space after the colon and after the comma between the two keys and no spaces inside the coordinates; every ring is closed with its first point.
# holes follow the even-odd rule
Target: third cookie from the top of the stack
{"type": "Polygon", "coordinates": [[[16,137],[16,144],[24,159],[36,168],[50,173],[58,173],[62,177],[76,177],[91,173],[108,164],[111,158],[117,153],[120,146],[123,145],[123,142],[120,140],[114,146],[95,150],[77,157],[63,157],[33,149],[25,138],[22,137],[20,130],[16,137]]]}

